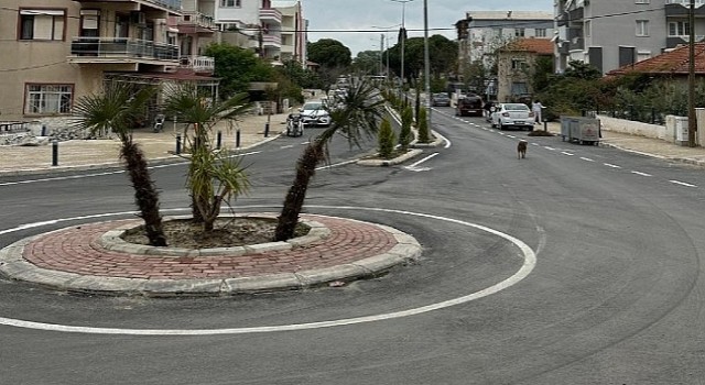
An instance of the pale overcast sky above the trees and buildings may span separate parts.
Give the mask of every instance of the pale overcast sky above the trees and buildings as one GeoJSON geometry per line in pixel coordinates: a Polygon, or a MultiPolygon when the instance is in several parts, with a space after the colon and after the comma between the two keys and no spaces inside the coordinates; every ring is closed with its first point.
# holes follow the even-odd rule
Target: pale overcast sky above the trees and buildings
{"type": "MultiPolygon", "coordinates": [[[[454,24],[467,11],[546,11],[553,12],[553,0],[426,0],[429,35],[443,34],[455,40],[454,24]],[[433,31],[432,29],[447,29],[433,31]]],[[[352,57],[360,51],[379,51],[381,32],[373,26],[398,30],[402,4],[392,0],[302,0],[304,18],[308,19],[308,41],[335,38],[350,48],[352,57]],[[350,31],[350,32],[344,32],[350,31]]],[[[423,0],[405,3],[405,25],[409,36],[423,36],[423,0]]],[[[391,45],[397,33],[388,33],[391,45]]]]}

